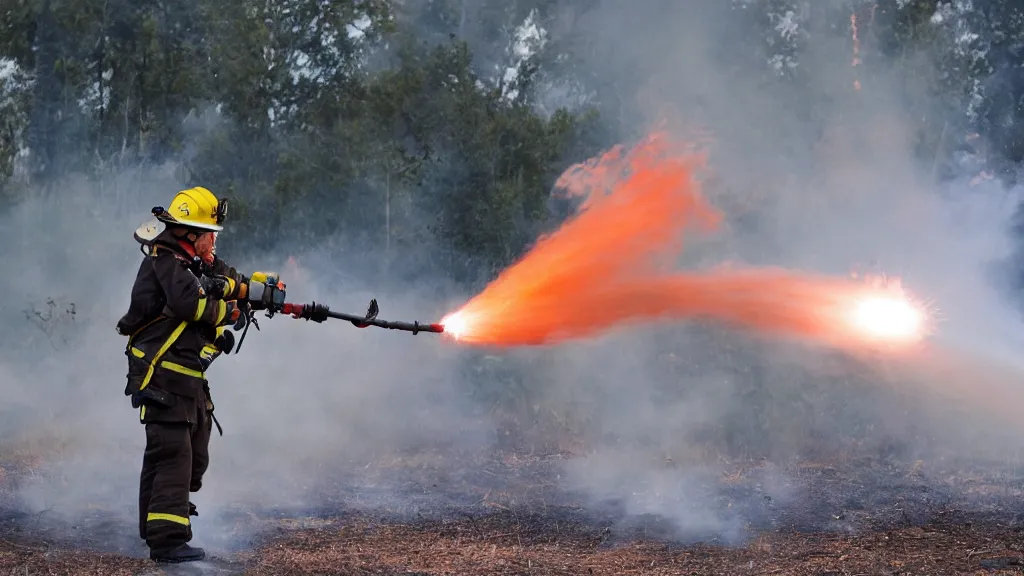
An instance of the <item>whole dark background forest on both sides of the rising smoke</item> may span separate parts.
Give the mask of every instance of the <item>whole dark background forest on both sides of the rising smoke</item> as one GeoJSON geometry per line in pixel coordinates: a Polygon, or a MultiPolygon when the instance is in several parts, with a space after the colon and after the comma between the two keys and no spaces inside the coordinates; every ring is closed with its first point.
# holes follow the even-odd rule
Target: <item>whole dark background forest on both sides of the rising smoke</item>
{"type": "MultiPolygon", "coordinates": [[[[1019,3],[714,4],[706,12],[742,39],[729,40],[741,74],[799,88],[814,35],[843,39],[864,83],[880,71],[912,81],[909,107],[928,111],[919,155],[939,177],[1016,183],[1019,3]]],[[[171,164],[183,184],[236,201],[228,245],[344,230],[368,250],[436,243],[453,278],[487,276],[557,219],[550,190],[562,170],[645,128],[624,112],[632,88],[595,73],[588,52],[597,33],[586,16],[604,6],[4,0],[0,196],[171,164]]]]}

